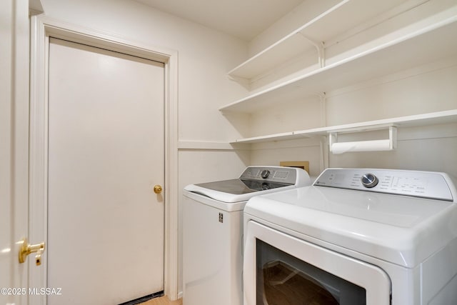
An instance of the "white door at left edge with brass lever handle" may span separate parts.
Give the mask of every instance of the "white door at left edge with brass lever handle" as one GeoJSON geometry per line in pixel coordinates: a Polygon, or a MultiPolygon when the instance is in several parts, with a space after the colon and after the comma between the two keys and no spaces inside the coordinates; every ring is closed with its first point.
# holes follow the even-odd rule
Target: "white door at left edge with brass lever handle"
{"type": "MultiPolygon", "coordinates": [[[[0,304],[26,305],[28,262],[19,264],[28,237],[29,1],[0,9],[0,304]]],[[[34,241],[36,242],[36,241],[34,241]]],[[[34,265],[32,268],[35,268],[34,265]]],[[[39,267],[36,267],[39,268],[39,267]]]]}

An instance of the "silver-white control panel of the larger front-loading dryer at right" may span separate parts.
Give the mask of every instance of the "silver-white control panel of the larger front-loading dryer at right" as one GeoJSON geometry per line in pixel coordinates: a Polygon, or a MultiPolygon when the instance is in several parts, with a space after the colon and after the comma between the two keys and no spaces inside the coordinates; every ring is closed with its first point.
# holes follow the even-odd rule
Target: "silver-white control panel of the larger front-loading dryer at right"
{"type": "Polygon", "coordinates": [[[326,169],[313,185],[453,201],[450,184],[446,174],[431,171],[326,169]]]}

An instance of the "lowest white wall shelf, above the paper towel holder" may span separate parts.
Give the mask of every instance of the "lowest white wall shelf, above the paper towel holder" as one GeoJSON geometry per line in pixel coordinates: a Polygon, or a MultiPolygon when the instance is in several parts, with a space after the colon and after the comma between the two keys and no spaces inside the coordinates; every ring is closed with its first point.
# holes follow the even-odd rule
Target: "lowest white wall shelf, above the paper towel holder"
{"type": "Polygon", "coordinates": [[[375,129],[383,129],[387,126],[397,127],[414,127],[414,126],[428,126],[436,124],[448,124],[457,122],[457,109],[448,111],[438,111],[428,114],[416,114],[413,116],[401,116],[392,119],[382,119],[376,121],[366,121],[354,124],[345,124],[338,126],[321,127],[315,129],[307,129],[300,131],[291,131],[281,134],[271,134],[268,136],[256,136],[253,138],[238,139],[231,142],[234,143],[259,143],[269,141],[285,141],[293,139],[310,138],[311,136],[326,136],[331,133],[341,132],[360,132],[370,131],[375,129]]]}

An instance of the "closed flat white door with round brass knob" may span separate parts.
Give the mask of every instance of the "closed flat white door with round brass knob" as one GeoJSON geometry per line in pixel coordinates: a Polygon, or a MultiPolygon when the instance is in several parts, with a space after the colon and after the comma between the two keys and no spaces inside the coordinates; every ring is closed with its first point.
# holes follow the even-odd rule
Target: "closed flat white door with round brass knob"
{"type": "Polygon", "coordinates": [[[48,304],[164,289],[164,65],[49,46],[48,304]]]}

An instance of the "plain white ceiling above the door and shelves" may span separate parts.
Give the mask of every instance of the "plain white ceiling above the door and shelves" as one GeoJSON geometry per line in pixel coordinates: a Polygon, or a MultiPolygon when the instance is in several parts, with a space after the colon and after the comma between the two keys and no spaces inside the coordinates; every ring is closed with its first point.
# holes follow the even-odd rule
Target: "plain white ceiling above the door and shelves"
{"type": "Polygon", "coordinates": [[[136,0],[250,41],[303,0],[136,0]]]}

